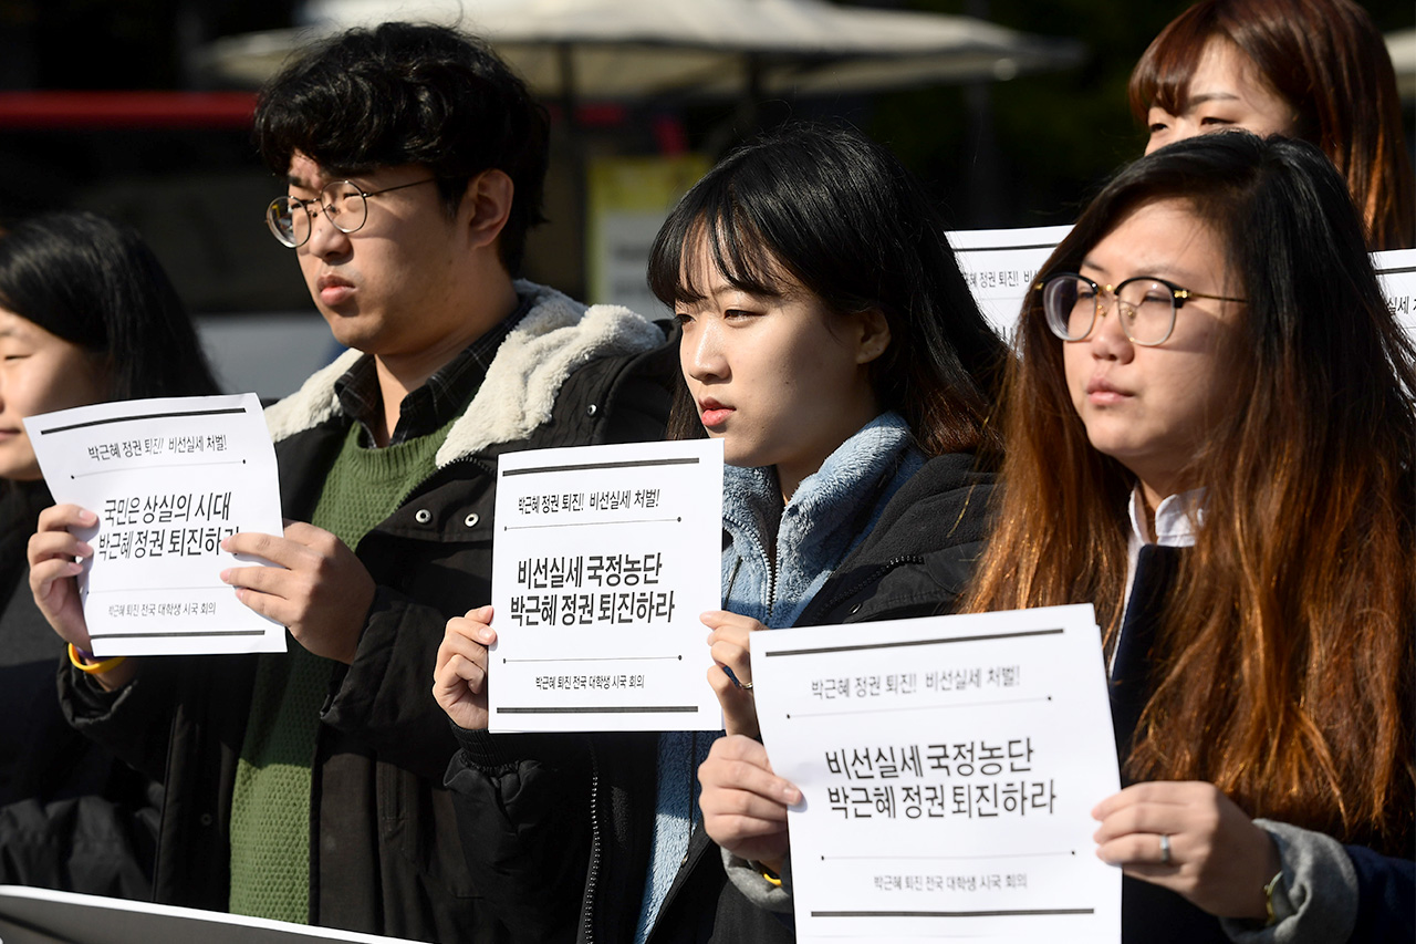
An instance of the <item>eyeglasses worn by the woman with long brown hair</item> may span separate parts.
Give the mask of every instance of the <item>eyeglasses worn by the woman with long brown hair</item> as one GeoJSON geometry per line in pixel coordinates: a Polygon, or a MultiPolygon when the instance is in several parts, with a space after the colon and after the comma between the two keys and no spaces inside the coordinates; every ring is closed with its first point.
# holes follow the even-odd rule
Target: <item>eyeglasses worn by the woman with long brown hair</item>
{"type": "Polygon", "coordinates": [[[1112,286],[1097,285],[1076,272],[1058,272],[1034,285],[1032,291],[1042,292],[1042,312],[1048,327],[1062,340],[1083,340],[1090,335],[1096,322],[1112,306],[1106,298],[1110,296],[1116,302],[1121,330],[1133,344],[1141,347],[1155,347],[1170,340],[1175,330],[1175,310],[1192,298],[1246,303],[1242,298],[1192,292],[1150,275],[1112,286]]]}

